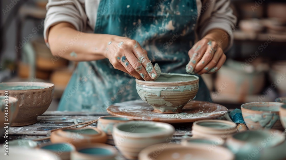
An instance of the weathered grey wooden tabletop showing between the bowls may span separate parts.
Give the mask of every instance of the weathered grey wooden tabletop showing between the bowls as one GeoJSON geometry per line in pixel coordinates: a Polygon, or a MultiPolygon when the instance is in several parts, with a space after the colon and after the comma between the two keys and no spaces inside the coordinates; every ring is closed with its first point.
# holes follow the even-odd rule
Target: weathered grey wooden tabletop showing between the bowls
{"type": "MultiPolygon", "coordinates": [[[[104,115],[108,115],[108,113],[46,111],[43,115],[37,117],[38,122],[36,124],[23,127],[9,127],[9,141],[14,139],[42,139],[50,136],[50,130],[52,129],[91,121],[104,115]]],[[[90,126],[96,127],[96,123],[90,126]]],[[[191,136],[192,123],[176,124],[174,127],[176,132],[173,135],[172,142],[180,143],[185,137],[191,136]]],[[[47,142],[49,142],[49,139],[37,141],[38,144],[47,142]]],[[[0,143],[4,143],[3,138],[1,138],[0,143]]],[[[123,157],[121,158],[124,159],[123,157]]]]}

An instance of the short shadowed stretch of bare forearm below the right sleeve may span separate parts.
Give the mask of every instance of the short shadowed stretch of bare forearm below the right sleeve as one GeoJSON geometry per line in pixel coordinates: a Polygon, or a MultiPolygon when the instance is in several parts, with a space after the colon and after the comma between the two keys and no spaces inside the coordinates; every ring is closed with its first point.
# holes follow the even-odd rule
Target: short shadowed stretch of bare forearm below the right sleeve
{"type": "Polygon", "coordinates": [[[228,34],[221,29],[212,29],[204,36],[204,38],[216,41],[219,44],[219,46],[224,50],[229,45],[229,36],[223,36],[223,35],[228,35],[228,34]]]}

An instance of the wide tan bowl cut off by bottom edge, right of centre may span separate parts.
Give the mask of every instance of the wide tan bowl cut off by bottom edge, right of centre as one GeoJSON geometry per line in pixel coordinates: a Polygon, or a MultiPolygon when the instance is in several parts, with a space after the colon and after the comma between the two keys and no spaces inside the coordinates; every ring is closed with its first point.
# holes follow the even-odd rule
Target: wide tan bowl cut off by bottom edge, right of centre
{"type": "Polygon", "coordinates": [[[192,159],[211,159],[211,160],[234,160],[234,155],[226,148],[217,146],[209,150],[210,145],[188,145],[179,144],[156,144],[143,149],[139,153],[139,160],[192,160],[192,159]]]}

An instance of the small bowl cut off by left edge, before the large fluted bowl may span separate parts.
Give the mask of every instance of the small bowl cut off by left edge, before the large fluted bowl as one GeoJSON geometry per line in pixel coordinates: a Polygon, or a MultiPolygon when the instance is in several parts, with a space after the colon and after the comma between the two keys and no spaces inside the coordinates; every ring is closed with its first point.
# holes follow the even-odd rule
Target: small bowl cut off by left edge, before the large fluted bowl
{"type": "MultiPolygon", "coordinates": [[[[5,94],[4,94],[5,95],[5,94]]],[[[0,96],[0,136],[4,135],[5,133],[5,126],[12,124],[15,119],[16,115],[19,111],[19,101],[15,97],[4,97],[0,96]],[[5,117],[5,115],[7,117],[5,117]],[[8,121],[5,121],[5,118],[7,118],[8,121]],[[4,124],[8,123],[8,124],[4,124]]]]}

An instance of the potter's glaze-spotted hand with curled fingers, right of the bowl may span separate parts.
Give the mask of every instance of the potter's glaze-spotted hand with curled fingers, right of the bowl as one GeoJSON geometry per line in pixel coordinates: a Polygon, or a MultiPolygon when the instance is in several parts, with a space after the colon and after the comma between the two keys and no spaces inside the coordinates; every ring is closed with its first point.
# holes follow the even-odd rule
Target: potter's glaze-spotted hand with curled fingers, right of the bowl
{"type": "Polygon", "coordinates": [[[190,62],[186,66],[186,71],[191,74],[215,73],[226,60],[221,45],[208,38],[198,41],[188,55],[190,62]]]}

